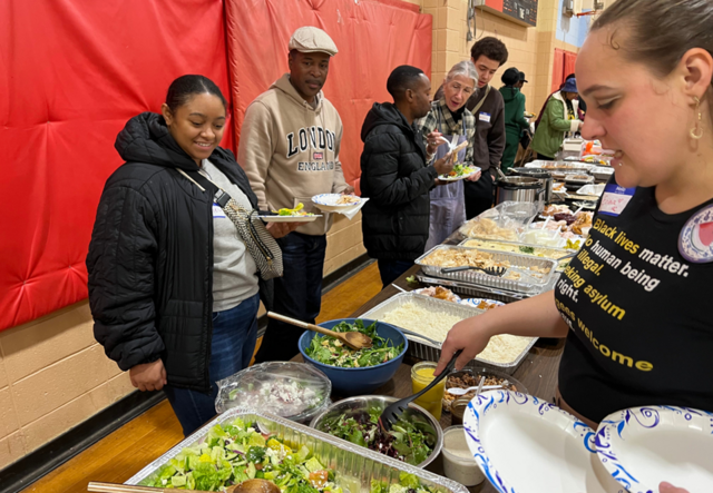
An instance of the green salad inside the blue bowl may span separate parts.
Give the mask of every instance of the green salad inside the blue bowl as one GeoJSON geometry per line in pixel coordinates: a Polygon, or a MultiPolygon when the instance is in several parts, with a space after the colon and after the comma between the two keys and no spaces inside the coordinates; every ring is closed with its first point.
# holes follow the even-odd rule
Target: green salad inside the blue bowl
{"type": "Polygon", "coordinates": [[[403,344],[394,346],[390,339],[384,339],[377,334],[377,323],[364,327],[362,321],[354,324],[341,322],[332,327],[333,332],[361,332],[371,337],[372,346],[369,349],[354,351],[346,347],[341,341],[334,337],[315,335],[305,349],[312,359],[330,366],[342,368],[363,368],[375,366],[393,359],[403,351],[403,344]]]}

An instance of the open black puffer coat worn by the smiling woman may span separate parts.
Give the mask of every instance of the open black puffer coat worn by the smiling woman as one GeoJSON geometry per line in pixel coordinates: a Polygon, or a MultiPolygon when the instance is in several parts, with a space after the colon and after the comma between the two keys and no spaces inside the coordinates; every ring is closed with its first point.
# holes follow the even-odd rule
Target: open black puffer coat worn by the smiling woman
{"type": "MultiPolygon", "coordinates": [[[[87,256],[95,337],[124,371],[162,358],[168,384],[207,393],[216,188],[160,115],[131,118],[115,147],[127,162],[105,185],[87,256]]],[[[209,159],[257,207],[233,154],[209,159]]]]}

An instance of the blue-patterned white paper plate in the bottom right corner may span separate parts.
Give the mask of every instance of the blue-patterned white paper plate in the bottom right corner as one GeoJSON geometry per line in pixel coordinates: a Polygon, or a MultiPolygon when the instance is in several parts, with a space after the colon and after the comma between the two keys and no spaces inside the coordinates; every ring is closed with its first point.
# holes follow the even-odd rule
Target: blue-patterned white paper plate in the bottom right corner
{"type": "Polygon", "coordinates": [[[632,493],[658,492],[667,481],[713,491],[713,413],[646,406],[609,414],[597,428],[597,455],[632,493]]]}

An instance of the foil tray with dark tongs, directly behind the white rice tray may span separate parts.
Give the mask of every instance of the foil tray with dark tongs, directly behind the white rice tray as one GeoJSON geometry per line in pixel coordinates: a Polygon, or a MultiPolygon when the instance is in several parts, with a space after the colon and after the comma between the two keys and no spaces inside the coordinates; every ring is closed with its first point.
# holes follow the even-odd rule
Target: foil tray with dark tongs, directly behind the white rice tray
{"type": "Polygon", "coordinates": [[[461,246],[441,245],[423,254],[420,258],[416,260],[416,264],[421,267],[421,270],[423,270],[423,274],[426,274],[427,276],[460,280],[462,283],[468,283],[471,286],[485,286],[485,287],[491,287],[495,289],[501,289],[501,290],[512,292],[512,293],[539,294],[544,292],[544,287],[550,282],[558,263],[556,260],[549,260],[547,258],[530,257],[527,255],[510,254],[507,252],[488,250],[485,248],[470,248],[470,247],[461,247],[461,246]],[[510,263],[511,267],[508,268],[508,270],[514,269],[518,272],[521,275],[521,278],[518,280],[506,279],[504,277],[489,276],[481,270],[461,270],[458,273],[445,274],[441,267],[423,264],[423,260],[438,249],[470,250],[470,252],[477,250],[477,252],[491,254],[494,260],[496,262],[510,263]],[[548,270],[548,274],[537,274],[535,276],[529,274],[529,272],[527,270],[529,267],[540,267],[540,268],[544,267],[549,270],[548,270]]]}

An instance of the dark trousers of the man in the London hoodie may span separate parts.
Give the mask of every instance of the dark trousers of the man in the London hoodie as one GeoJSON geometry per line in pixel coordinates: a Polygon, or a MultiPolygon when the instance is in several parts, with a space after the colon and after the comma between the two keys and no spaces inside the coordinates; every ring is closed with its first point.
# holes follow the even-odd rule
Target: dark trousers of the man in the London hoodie
{"type": "MultiPolygon", "coordinates": [[[[291,233],[277,239],[282,249],[284,273],[275,279],[273,310],[297,321],[314,324],[322,307],[322,274],[326,236],[291,233]]],[[[303,331],[283,322],[267,323],[255,361],[286,362],[300,352],[297,342],[303,331]]]]}

